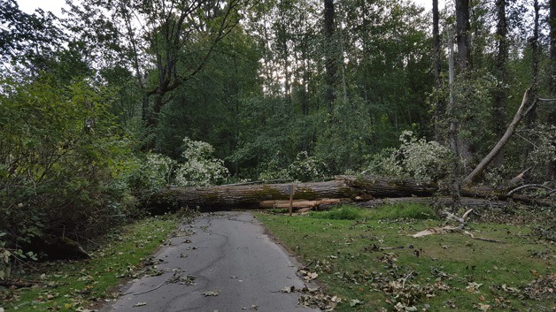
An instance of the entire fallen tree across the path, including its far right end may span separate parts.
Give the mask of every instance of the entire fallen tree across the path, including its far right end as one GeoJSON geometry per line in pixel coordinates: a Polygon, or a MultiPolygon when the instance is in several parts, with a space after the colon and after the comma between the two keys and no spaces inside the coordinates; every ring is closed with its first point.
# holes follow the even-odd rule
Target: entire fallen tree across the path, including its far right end
{"type": "MultiPolygon", "coordinates": [[[[291,186],[291,183],[281,183],[168,187],[157,194],[145,196],[143,207],[153,214],[162,214],[181,207],[202,211],[281,208],[288,206],[283,201],[289,201],[291,186]]],[[[442,191],[436,183],[430,181],[372,176],[338,176],[330,181],[298,183],[294,185],[294,194],[294,207],[297,209],[331,203],[323,199],[342,199],[342,202],[355,202],[367,207],[382,202],[448,205],[451,201],[449,197],[442,197],[442,191]]],[[[503,207],[510,202],[542,206],[555,204],[550,198],[538,199],[484,186],[462,189],[461,194],[464,196],[462,204],[467,207],[503,207]]]]}

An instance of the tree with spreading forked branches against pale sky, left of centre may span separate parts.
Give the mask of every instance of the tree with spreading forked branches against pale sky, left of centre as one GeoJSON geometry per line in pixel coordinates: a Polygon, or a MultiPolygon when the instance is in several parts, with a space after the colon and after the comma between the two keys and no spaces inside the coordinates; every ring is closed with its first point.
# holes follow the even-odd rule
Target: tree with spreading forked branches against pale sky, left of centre
{"type": "Polygon", "coordinates": [[[115,52],[116,61],[123,59],[135,73],[143,94],[145,149],[156,148],[154,131],[163,106],[175,89],[203,70],[217,43],[236,27],[245,2],[115,0],[72,5],[73,22],[81,25],[81,34],[107,32],[108,40],[93,40],[115,52]]]}

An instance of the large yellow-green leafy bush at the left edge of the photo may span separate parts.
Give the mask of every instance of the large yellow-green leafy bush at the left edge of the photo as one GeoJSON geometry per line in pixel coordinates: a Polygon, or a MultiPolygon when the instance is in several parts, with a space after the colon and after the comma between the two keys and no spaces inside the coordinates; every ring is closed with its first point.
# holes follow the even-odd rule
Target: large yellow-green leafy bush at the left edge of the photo
{"type": "Polygon", "coordinates": [[[119,221],[111,182],[125,159],[110,102],[85,81],[60,88],[48,77],[2,81],[0,253],[45,234],[90,238],[119,221]]]}

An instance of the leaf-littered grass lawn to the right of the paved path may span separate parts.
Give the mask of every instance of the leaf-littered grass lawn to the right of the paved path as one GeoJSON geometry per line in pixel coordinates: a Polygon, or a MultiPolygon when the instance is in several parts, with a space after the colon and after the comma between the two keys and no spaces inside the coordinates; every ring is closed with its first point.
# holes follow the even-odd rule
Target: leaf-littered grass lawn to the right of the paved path
{"type": "Polygon", "coordinates": [[[496,243],[460,232],[412,238],[442,225],[421,205],[258,217],[309,263],[328,293],[343,299],[338,311],[553,311],[555,306],[556,247],[531,235],[533,226],[467,225],[475,237],[504,241],[496,243]]]}

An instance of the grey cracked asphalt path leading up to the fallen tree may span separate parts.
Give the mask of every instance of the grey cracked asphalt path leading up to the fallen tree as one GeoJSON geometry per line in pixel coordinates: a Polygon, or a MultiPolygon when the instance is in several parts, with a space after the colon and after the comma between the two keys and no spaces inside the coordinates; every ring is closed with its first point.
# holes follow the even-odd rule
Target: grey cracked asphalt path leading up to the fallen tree
{"type": "Polygon", "coordinates": [[[298,304],[298,263],[247,212],[202,214],[154,255],[158,276],[123,286],[103,312],[319,311],[298,304]]]}

